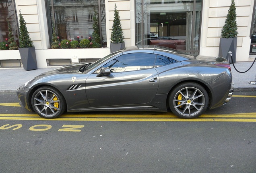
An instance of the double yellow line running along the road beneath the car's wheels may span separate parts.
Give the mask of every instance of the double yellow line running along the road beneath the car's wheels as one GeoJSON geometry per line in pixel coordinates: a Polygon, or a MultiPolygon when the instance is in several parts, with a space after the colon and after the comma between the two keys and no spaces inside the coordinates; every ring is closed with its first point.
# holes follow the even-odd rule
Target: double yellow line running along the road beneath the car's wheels
{"type": "Polygon", "coordinates": [[[0,114],[0,120],[33,121],[180,121],[180,122],[256,122],[256,113],[201,115],[197,119],[179,119],[174,115],[63,115],[44,119],[36,114],[0,114]]]}

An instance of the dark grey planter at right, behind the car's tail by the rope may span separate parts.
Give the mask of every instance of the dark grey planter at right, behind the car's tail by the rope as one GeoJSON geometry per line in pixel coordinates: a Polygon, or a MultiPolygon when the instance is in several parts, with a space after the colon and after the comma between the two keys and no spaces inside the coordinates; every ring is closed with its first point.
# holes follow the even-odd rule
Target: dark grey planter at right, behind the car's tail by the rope
{"type": "MultiPolygon", "coordinates": [[[[219,56],[229,60],[229,51],[232,52],[232,59],[235,63],[236,59],[236,45],[237,37],[234,38],[221,38],[219,42],[219,56]]],[[[229,60],[229,63],[232,63],[232,60],[229,60]]]]}

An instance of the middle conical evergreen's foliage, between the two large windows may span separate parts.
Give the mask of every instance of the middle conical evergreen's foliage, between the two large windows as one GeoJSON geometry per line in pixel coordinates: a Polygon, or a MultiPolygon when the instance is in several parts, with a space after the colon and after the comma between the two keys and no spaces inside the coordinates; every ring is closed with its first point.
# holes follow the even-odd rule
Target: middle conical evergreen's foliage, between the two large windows
{"type": "Polygon", "coordinates": [[[114,21],[112,25],[112,32],[111,32],[111,43],[122,43],[124,42],[124,35],[123,30],[121,26],[119,11],[116,9],[115,4],[115,10],[114,10],[114,21]]]}

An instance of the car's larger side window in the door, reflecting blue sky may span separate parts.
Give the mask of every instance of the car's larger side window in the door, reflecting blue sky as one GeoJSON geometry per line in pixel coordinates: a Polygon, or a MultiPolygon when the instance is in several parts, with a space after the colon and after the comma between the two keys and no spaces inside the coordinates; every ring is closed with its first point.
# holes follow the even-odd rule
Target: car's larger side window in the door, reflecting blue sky
{"type": "Polygon", "coordinates": [[[154,67],[155,57],[155,54],[149,53],[124,54],[109,61],[102,68],[109,67],[112,72],[144,70],[154,67]]]}

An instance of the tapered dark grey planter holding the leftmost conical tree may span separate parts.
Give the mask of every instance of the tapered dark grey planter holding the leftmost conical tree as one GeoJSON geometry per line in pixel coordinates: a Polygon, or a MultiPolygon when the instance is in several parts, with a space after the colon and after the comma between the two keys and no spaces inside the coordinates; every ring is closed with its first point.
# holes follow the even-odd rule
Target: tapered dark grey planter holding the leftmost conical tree
{"type": "Polygon", "coordinates": [[[19,48],[21,55],[21,61],[24,70],[35,70],[37,69],[37,58],[35,56],[35,47],[19,48]]]}

